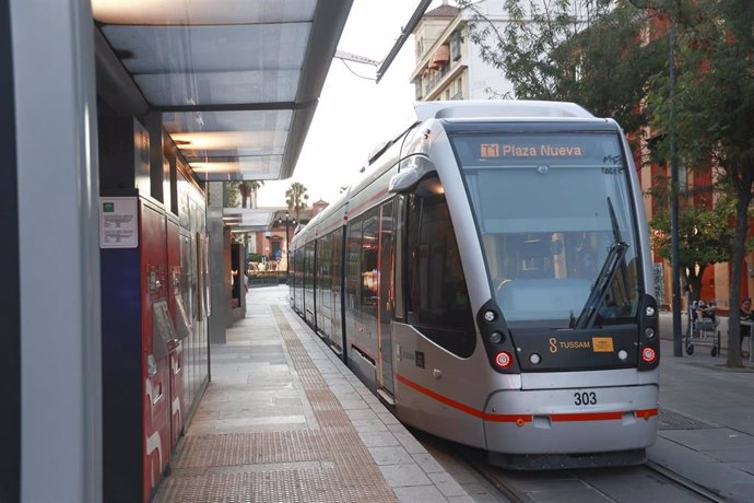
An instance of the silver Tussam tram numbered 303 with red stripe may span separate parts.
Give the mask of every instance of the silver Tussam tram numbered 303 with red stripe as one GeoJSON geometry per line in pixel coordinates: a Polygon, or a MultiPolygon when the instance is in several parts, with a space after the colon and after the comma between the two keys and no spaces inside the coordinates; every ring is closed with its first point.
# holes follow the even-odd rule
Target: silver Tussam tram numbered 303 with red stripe
{"type": "Polygon", "coordinates": [[[620,126],[573,103],[414,109],[293,237],[294,309],[401,421],[493,464],[643,463],[658,309],[620,126]]]}

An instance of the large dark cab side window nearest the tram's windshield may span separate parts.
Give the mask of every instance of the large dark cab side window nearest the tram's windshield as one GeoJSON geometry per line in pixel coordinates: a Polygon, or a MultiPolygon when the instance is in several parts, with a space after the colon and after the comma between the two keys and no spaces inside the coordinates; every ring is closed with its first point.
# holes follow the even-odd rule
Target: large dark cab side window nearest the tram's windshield
{"type": "Polygon", "coordinates": [[[439,180],[429,178],[408,199],[408,320],[440,347],[468,358],[476,340],[473,315],[450,213],[438,188],[439,180]]]}

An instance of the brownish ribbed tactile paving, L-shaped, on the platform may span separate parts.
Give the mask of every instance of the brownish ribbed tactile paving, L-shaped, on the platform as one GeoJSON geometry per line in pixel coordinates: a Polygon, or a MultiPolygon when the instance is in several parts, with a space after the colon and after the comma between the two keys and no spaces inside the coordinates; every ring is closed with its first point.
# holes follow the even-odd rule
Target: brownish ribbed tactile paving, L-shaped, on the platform
{"type": "Polygon", "coordinates": [[[271,309],[318,428],[189,435],[155,501],[397,502],[282,311],[271,309]]]}

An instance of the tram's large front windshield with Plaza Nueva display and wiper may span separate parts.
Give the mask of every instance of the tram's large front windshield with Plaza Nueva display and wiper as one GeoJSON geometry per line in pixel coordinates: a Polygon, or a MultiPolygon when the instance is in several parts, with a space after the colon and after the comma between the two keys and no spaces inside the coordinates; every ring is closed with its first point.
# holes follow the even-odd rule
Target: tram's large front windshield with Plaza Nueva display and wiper
{"type": "Polygon", "coordinates": [[[629,323],[640,297],[616,133],[451,137],[497,304],[511,327],[629,323]]]}

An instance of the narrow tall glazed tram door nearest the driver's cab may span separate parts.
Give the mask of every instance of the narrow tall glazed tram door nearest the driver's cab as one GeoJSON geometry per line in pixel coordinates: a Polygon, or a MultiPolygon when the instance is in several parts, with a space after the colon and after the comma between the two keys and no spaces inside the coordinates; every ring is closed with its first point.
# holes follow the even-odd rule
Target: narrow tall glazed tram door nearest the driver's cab
{"type": "Polygon", "coordinates": [[[393,313],[393,224],[392,201],[382,204],[379,217],[379,323],[378,343],[380,360],[380,377],[382,388],[391,396],[394,395],[392,366],[392,328],[390,321],[393,313]]]}

